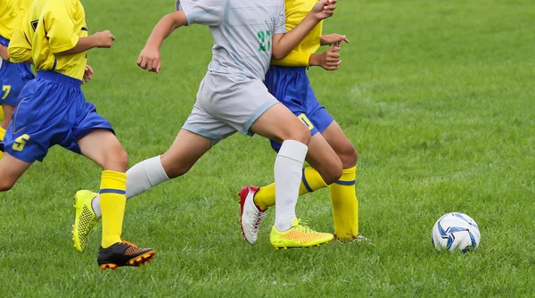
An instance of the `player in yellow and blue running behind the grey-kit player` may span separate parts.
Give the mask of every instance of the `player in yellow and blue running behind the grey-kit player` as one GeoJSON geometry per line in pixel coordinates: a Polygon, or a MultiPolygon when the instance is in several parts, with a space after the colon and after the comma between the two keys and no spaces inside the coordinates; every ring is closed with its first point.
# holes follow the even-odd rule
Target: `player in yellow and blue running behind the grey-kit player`
{"type": "MultiPolygon", "coordinates": [[[[286,29],[299,24],[316,2],[286,0],[286,29]]],[[[337,70],[341,62],[338,51],[342,41],[349,43],[349,40],[338,34],[322,36],[322,24],[320,22],[311,30],[291,54],[271,61],[265,84],[269,92],[309,128],[312,135],[306,159],[312,167],[303,169],[299,194],[329,186],[335,236],[348,241],[358,237],[358,200],[355,195],[358,155],[342,128],[317,101],[306,69],[321,66],[325,70],[337,70]],[[323,54],[315,54],[320,46],[327,45],[334,46],[323,54]]],[[[276,142],[272,141],[271,145],[276,151],[280,148],[276,142]]],[[[253,244],[266,209],[275,205],[275,184],[245,186],[239,195],[243,236],[253,244]]]]}

